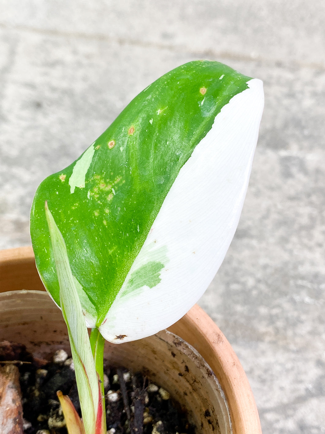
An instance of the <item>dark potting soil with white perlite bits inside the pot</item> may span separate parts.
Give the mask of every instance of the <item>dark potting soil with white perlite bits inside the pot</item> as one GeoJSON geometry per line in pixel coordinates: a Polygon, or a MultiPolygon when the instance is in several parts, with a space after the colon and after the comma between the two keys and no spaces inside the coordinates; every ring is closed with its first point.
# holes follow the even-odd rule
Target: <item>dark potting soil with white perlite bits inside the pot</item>
{"type": "MultiPolygon", "coordinates": [[[[33,358],[23,345],[0,342],[0,363],[8,360],[16,361],[20,370],[24,433],[48,430],[44,434],[67,434],[56,392],[68,395],[80,414],[72,359],[60,350],[54,356],[55,362],[47,362],[33,358]]],[[[109,434],[195,433],[168,391],[139,372],[107,368],[104,390],[109,434]]]]}

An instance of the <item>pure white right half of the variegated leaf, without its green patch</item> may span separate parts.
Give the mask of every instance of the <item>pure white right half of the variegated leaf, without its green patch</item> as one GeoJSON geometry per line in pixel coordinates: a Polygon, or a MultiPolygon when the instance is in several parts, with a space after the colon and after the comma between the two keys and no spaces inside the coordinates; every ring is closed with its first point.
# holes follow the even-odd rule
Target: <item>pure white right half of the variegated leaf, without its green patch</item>
{"type": "Polygon", "coordinates": [[[108,341],[141,339],[169,327],[195,304],[218,271],[243,207],[263,112],[263,83],[252,79],[247,85],[221,109],[179,171],[100,326],[108,341]],[[159,252],[165,264],[161,281],[125,295],[133,273],[159,260],[159,252]],[[125,337],[118,339],[120,335],[125,337]]]}

